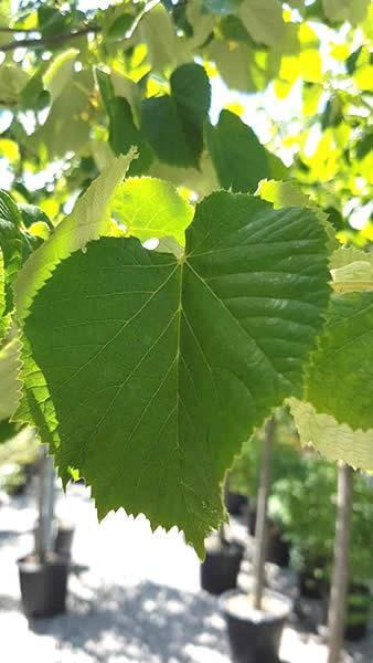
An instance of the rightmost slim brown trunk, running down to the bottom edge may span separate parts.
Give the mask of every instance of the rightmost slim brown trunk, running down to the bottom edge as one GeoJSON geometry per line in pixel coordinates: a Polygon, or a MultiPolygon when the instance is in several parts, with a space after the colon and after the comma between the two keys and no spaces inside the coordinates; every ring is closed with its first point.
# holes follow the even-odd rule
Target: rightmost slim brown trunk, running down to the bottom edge
{"type": "Polygon", "coordinates": [[[328,663],[339,663],[345,615],[345,594],[349,582],[350,516],[352,505],[352,470],[339,463],[334,562],[329,600],[328,663]]]}

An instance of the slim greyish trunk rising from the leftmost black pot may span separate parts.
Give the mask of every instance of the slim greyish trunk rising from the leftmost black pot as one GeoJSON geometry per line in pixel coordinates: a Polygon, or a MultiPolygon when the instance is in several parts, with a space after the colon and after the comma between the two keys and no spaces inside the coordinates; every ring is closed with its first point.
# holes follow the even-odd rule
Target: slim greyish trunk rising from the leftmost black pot
{"type": "Polygon", "coordinates": [[[54,467],[53,460],[44,455],[39,476],[39,523],[35,534],[35,549],[44,562],[53,545],[54,516],[54,467]]]}

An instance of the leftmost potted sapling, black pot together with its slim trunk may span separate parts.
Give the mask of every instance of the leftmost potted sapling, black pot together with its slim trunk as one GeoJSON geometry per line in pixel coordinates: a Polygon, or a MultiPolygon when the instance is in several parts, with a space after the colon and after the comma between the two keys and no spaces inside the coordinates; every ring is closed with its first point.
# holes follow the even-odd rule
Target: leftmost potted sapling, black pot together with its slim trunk
{"type": "Polygon", "coordinates": [[[44,455],[40,465],[39,522],[35,550],[19,560],[22,607],[29,618],[65,611],[70,560],[53,551],[54,469],[44,455]]]}

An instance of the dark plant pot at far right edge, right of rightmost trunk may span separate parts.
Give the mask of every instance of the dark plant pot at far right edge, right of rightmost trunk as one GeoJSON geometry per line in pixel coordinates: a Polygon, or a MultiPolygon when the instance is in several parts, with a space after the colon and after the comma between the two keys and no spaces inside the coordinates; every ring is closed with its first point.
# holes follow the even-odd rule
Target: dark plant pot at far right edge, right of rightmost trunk
{"type": "Polygon", "coordinates": [[[372,597],[365,585],[351,585],[347,596],[345,640],[361,640],[367,633],[372,597]]]}

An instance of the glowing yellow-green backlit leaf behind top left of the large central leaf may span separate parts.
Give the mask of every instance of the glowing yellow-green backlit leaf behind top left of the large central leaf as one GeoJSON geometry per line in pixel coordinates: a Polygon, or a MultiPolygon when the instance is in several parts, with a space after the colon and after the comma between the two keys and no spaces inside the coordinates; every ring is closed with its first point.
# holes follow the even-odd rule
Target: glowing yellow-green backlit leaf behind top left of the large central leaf
{"type": "Polygon", "coordinates": [[[111,213],[126,227],[128,235],[141,242],[171,235],[184,245],[185,229],[193,219],[194,208],[170,182],[142,177],[127,179],[117,188],[111,213]]]}

